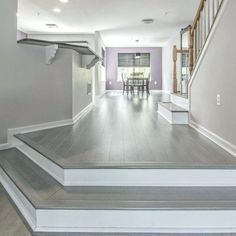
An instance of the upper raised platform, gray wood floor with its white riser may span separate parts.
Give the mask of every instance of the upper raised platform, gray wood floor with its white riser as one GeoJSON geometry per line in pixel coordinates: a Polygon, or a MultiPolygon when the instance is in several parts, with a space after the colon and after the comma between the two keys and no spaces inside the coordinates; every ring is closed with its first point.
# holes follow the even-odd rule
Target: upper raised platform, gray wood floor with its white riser
{"type": "Polygon", "coordinates": [[[169,125],[156,112],[162,99],[107,94],[78,124],[19,134],[14,144],[65,186],[236,186],[236,158],[169,125]]]}

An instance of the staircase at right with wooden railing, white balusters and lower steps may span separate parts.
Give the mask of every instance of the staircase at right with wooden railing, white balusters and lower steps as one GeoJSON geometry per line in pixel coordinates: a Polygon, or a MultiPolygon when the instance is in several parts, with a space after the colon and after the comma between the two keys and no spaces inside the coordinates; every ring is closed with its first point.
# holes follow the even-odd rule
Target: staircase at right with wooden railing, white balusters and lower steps
{"type": "MultiPolygon", "coordinates": [[[[189,123],[189,95],[191,92],[189,90],[192,78],[201,61],[204,49],[207,47],[207,42],[223,4],[227,4],[227,0],[201,0],[193,24],[181,30],[180,49],[178,49],[176,45],[173,47],[173,94],[171,95],[170,103],[166,104],[160,102],[158,108],[158,113],[170,124],[189,123]],[[188,34],[189,45],[187,49],[182,47],[182,37],[184,33],[188,34]],[[180,54],[181,60],[183,60],[183,55],[188,55],[187,82],[183,80],[183,78],[180,78],[180,81],[177,79],[178,54],[180,54]],[[187,91],[185,94],[182,93],[182,83],[184,81],[187,83],[187,91]],[[180,91],[178,91],[178,87],[180,91]]],[[[179,69],[182,70],[182,67],[179,69]]],[[[182,72],[180,74],[182,74],[182,72]]]]}

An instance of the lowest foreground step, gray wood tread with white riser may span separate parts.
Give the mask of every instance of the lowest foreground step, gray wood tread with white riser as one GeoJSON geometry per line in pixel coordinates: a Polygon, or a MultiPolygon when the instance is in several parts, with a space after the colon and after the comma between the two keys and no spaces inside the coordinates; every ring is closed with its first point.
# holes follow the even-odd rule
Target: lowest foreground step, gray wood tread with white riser
{"type": "Polygon", "coordinates": [[[64,188],[16,149],[0,157],[1,183],[35,232],[236,232],[233,187],[64,188]]]}

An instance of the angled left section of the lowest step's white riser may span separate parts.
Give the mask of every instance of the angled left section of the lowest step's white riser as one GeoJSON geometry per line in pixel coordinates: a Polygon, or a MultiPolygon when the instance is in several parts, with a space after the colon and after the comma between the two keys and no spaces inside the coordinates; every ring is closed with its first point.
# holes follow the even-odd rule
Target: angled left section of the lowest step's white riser
{"type": "Polygon", "coordinates": [[[0,183],[7,191],[21,214],[24,216],[32,230],[36,228],[36,210],[16,185],[10,180],[5,172],[0,168],[0,183]]]}

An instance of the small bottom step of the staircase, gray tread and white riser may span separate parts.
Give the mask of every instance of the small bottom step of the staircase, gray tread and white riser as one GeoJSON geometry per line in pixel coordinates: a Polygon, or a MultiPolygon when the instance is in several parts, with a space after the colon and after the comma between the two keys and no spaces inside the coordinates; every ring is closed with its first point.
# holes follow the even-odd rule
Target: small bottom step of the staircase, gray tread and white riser
{"type": "Polygon", "coordinates": [[[158,113],[173,125],[185,125],[189,123],[188,110],[171,102],[159,102],[158,113]]]}

